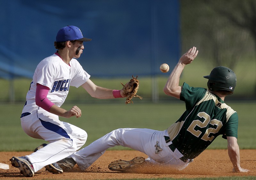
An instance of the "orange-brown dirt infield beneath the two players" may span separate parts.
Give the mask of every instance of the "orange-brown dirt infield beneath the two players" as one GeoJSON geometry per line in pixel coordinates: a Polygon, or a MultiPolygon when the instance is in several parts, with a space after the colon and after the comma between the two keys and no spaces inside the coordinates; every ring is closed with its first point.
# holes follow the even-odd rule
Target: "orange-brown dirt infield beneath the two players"
{"type": "MultiPolygon", "coordinates": [[[[9,164],[10,169],[0,169],[0,179],[22,179],[18,168],[12,167],[12,156],[23,156],[32,152],[0,152],[0,163],[9,164]]],[[[81,172],[76,165],[72,172],[54,175],[41,169],[31,179],[132,179],[132,178],[198,178],[220,176],[256,176],[256,149],[240,150],[241,167],[251,170],[248,173],[232,173],[232,164],[227,150],[205,150],[194,162],[177,171],[163,166],[141,165],[126,173],[108,170],[108,164],[117,159],[131,160],[135,156],[147,156],[138,151],[106,151],[86,171],[81,172]]],[[[26,178],[27,179],[27,178],[26,178]]]]}

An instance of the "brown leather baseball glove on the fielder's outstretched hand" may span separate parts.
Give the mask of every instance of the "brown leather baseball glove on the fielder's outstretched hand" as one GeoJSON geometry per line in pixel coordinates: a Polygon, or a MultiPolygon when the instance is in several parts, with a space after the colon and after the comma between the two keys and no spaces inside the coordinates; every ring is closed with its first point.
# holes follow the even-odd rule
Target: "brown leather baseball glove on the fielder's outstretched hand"
{"type": "Polygon", "coordinates": [[[125,104],[129,104],[129,103],[133,104],[133,102],[131,101],[133,97],[138,97],[142,99],[142,97],[137,95],[137,91],[139,89],[139,83],[140,83],[137,78],[138,76],[136,78],[132,76],[132,79],[125,85],[121,82],[121,84],[124,86],[123,87],[124,94],[127,95],[125,104]]]}

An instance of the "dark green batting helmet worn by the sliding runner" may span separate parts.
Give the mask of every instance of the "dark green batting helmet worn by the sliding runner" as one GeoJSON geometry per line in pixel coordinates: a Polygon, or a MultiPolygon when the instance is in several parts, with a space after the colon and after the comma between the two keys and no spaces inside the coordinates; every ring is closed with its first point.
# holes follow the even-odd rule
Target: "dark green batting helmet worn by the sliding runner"
{"type": "Polygon", "coordinates": [[[218,66],[204,78],[209,79],[207,86],[211,91],[227,90],[232,94],[236,87],[236,74],[229,68],[218,66]]]}

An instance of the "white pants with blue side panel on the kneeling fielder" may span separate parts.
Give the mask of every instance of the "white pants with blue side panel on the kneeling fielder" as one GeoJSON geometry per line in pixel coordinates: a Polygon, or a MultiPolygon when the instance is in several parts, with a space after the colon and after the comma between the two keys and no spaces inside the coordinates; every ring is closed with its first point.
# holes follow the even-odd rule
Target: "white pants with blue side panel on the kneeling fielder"
{"type": "Polygon", "coordinates": [[[44,148],[25,156],[32,163],[35,172],[73,154],[87,140],[87,133],[84,130],[62,122],[58,116],[44,110],[39,109],[37,113],[20,119],[23,130],[29,136],[50,142],[44,148]]]}

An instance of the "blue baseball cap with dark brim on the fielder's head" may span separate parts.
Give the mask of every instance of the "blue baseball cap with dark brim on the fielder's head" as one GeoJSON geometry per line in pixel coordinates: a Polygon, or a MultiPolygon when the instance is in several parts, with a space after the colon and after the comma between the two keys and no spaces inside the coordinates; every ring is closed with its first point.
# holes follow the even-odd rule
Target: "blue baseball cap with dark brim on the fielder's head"
{"type": "Polygon", "coordinates": [[[66,26],[62,27],[56,36],[56,42],[65,42],[65,41],[91,41],[92,39],[84,38],[81,30],[76,26],[66,26]]]}

